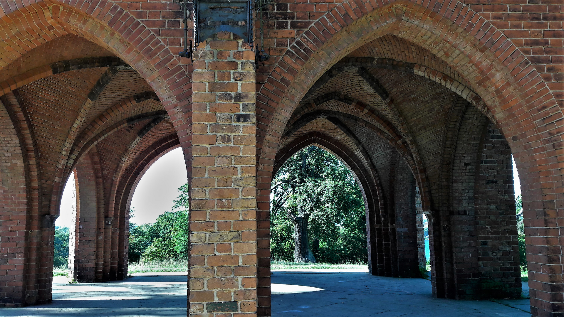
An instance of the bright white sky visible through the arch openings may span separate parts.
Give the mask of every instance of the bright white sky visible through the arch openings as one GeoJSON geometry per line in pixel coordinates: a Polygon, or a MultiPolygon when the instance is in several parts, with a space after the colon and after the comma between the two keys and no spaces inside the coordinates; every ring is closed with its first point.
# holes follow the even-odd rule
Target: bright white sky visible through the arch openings
{"type": "MultiPolygon", "coordinates": [[[[515,196],[521,195],[515,162],[513,162],[513,175],[515,196]]],[[[135,224],[155,222],[158,215],[171,210],[173,200],[178,196],[177,188],[186,182],[186,165],[184,165],[182,149],[173,149],[156,161],[141,178],[131,200],[131,207],[135,208],[135,214],[130,221],[135,224]]],[[[73,205],[76,204],[73,188],[74,176],[71,175],[63,192],[60,216],[55,226],[70,228],[72,224],[73,219],[70,218],[70,213],[73,205]]]]}

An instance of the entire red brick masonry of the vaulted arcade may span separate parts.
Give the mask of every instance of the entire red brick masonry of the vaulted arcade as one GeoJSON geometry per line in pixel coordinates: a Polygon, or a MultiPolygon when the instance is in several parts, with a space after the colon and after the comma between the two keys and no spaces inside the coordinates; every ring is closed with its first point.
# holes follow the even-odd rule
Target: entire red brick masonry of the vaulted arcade
{"type": "MultiPolygon", "coordinates": [[[[81,232],[78,217],[75,250],[96,250],[95,265],[85,261],[76,274],[124,278],[136,183],[162,153],[181,146],[192,199],[210,204],[192,205],[192,215],[205,212],[192,222],[213,222],[210,231],[194,234],[255,235],[192,241],[197,252],[214,249],[192,254],[192,266],[213,275],[198,276],[202,288],[191,285],[190,294],[212,292],[213,299],[211,293],[191,299],[191,314],[269,316],[270,179],[284,157],[318,144],[341,157],[362,184],[372,274],[411,274],[421,264],[425,213],[433,293],[447,298],[517,294],[512,152],[523,190],[531,312],[561,316],[562,10],[559,0],[277,1],[263,12],[263,47],[272,57],[253,68],[254,76],[240,69],[252,64],[252,51],[225,34],[200,46],[194,64],[176,56],[181,11],[171,1],[0,1],[2,305],[51,300],[52,221],[68,175],[88,166],[92,172],[77,180],[77,195],[89,202],[78,206],[89,223],[81,232]],[[237,69],[219,69],[233,63],[237,69]],[[193,69],[214,77],[195,80],[193,69]],[[256,103],[254,95],[230,99],[255,91],[256,103]],[[233,108],[212,111],[211,104],[233,108]],[[251,121],[237,122],[246,115],[251,121]],[[236,144],[236,136],[254,140],[236,144]],[[217,147],[249,152],[212,152],[217,147]],[[205,155],[197,152],[204,148],[205,155]],[[213,165],[198,165],[212,159],[213,165]],[[237,175],[201,176],[218,166],[231,174],[236,168],[237,175]],[[248,179],[235,183],[239,177],[255,178],[256,187],[248,179]],[[210,179],[213,184],[202,185],[210,179]],[[196,197],[202,189],[206,196],[196,197]],[[250,192],[256,210],[233,207],[233,200],[254,200],[250,192]],[[240,218],[211,220],[216,210],[240,218]],[[235,228],[255,219],[256,228],[235,228]],[[235,250],[239,243],[255,243],[256,251],[235,250]],[[218,246],[222,256],[256,259],[209,265],[218,246]],[[231,272],[218,272],[224,266],[231,272]],[[244,275],[250,272],[236,271],[239,266],[256,270],[244,275]],[[240,297],[240,290],[250,292],[240,297]]],[[[74,257],[78,263],[88,255],[74,257]]]]}

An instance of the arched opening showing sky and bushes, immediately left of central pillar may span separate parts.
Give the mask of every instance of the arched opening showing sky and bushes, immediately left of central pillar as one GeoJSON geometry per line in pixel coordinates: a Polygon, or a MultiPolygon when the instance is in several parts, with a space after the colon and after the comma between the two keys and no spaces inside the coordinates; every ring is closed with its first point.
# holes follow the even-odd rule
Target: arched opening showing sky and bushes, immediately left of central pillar
{"type": "Polygon", "coordinates": [[[188,185],[182,149],[159,158],[131,199],[129,273],[187,272],[188,185]]]}

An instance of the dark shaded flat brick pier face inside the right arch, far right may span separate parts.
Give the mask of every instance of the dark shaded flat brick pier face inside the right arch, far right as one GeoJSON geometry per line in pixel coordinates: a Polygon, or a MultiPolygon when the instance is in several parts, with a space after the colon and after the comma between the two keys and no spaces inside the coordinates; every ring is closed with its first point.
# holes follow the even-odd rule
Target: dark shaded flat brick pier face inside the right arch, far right
{"type": "Polygon", "coordinates": [[[501,131],[491,123],[484,131],[478,159],[474,210],[479,296],[520,298],[521,267],[511,149],[501,131]]]}

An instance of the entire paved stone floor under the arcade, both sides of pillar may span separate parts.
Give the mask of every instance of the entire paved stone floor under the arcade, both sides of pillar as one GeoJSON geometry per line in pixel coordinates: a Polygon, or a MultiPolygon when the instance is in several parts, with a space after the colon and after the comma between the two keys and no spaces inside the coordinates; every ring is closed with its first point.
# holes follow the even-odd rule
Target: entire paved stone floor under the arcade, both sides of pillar
{"type": "MultiPolygon", "coordinates": [[[[272,275],[272,317],[530,316],[525,311],[528,300],[497,303],[433,298],[430,281],[423,279],[350,272],[276,273],[272,275]]],[[[186,276],[175,274],[92,284],[65,284],[64,279],[55,278],[50,305],[0,309],[0,316],[185,317],[186,276]]]]}

